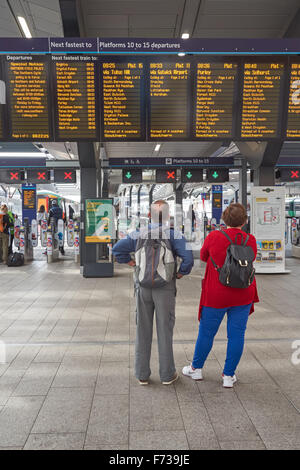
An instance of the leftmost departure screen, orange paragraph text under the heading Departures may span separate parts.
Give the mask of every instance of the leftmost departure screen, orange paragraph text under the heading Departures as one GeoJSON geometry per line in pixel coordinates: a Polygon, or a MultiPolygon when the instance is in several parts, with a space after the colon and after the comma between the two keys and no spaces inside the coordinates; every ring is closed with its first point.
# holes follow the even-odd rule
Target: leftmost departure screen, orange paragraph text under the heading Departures
{"type": "Polygon", "coordinates": [[[7,56],[5,66],[10,138],[50,140],[47,59],[7,56]]]}

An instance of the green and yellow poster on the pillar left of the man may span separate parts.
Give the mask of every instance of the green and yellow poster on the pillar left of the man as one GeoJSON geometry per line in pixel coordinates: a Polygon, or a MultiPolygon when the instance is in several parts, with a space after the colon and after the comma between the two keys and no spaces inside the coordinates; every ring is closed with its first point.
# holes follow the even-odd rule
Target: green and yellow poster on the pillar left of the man
{"type": "Polygon", "coordinates": [[[112,199],[86,199],[85,243],[110,243],[114,238],[112,199]]]}

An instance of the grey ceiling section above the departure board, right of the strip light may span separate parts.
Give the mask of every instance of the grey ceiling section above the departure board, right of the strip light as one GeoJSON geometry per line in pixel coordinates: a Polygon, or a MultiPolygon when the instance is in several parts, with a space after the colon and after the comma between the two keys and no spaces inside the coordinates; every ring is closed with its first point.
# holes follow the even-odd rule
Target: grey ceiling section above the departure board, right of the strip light
{"type": "Polygon", "coordinates": [[[79,0],[83,36],[283,37],[299,0],[79,0]]]}

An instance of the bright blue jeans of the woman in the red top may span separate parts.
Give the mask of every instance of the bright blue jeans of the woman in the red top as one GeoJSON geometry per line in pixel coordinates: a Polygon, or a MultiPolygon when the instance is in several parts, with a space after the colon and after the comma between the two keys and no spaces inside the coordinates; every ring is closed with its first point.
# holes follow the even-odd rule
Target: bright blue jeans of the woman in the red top
{"type": "Polygon", "coordinates": [[[202,369],[213,346],[214,337],[227,312],[227,354],[224,375],[233,376],[243,354],[249,305],[229,308],[203,307],[192,366],[202,369]]]}

